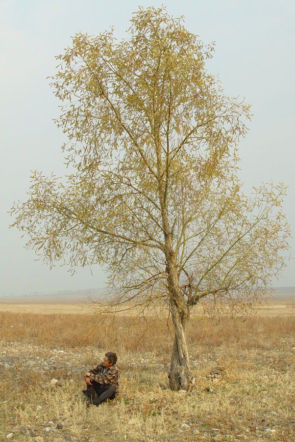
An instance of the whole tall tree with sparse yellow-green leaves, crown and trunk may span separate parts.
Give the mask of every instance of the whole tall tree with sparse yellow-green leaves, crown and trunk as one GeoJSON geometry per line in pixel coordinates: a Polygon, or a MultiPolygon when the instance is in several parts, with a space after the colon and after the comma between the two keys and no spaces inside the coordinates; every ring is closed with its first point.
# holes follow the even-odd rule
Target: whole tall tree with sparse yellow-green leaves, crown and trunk
{"type": "Polygon", "coordinates": [[[165,8],[141,8],[119,43],[113,30],[75,35],[52,83],[73,172],[63,184],[35,171],[12,208],[12,225],[50,265],[106,265],[110,305],[167,302],[172,389],[190,384],[191,308],[260,299],[288,249],[284,186],[241,192],[249,106],[207,73],[213,51],[165,8]]]}

